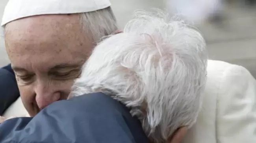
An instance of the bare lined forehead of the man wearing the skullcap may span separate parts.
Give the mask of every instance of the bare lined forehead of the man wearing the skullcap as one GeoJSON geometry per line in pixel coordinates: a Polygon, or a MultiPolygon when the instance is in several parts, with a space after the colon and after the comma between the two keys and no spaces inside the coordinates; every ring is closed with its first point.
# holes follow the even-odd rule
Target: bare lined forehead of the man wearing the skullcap
{"type": "Polygon", "coordinates": [[[6,50],[13,65],[80,62],[93,48],[78,14],[32,16],[6,25],[6,50]]]}

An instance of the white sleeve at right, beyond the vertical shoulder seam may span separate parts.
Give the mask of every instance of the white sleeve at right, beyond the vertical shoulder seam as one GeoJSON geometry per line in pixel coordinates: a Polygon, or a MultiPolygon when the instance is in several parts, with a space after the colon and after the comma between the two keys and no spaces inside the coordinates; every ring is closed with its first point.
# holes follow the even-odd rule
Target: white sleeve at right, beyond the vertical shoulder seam
{"type": "Polygon", "coordinates": [[[256,80],[244,67],[223,72],[216,125],[218,143],[256,143],[256,80]]]}

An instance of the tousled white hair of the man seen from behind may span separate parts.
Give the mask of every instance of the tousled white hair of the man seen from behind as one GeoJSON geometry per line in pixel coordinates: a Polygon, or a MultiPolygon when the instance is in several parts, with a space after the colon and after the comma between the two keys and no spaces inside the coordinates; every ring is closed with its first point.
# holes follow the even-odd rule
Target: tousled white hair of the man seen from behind
{"type": "Polygon", "coordinates": [[[206,82],[202,35],[161,11],[137,11],[123,33],[99,43],[70,96],[103,92],[131,109],[155,143],[195,123],[206,82]]]}

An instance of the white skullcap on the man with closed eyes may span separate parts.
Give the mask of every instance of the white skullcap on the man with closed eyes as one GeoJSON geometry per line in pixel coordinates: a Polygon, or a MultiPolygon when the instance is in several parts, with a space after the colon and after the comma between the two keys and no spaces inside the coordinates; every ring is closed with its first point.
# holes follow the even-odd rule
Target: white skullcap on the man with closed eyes
{"type": "Polygon", "coordinates": [[[1,26],[19,18],[43,14],[71,14],[109,7],[109,0],[9,0],[1,26]]]}

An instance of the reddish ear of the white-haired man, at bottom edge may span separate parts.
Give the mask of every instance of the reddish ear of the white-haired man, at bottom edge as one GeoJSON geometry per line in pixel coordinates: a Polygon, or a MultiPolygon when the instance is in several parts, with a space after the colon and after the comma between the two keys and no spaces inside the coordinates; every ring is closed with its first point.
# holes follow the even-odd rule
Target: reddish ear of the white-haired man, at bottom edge
{"type": "Polygon", "coordinates": [[[173,136],[171,136],[167,143],[181,143],[182,139],[184,138],[184,136],[186,135],[187,133],[187,127],[180,127],[178,128],[173,136]]]}

